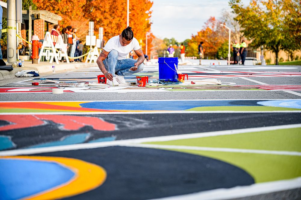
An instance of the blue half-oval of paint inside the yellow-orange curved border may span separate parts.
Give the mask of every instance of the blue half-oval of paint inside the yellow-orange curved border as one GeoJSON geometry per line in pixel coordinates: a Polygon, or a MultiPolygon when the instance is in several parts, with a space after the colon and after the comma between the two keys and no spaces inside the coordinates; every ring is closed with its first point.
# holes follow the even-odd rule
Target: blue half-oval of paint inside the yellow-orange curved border
{"type": "Polygon", "coordinates": [[[0,199],[25,198],[66,183],[74,176],[73,171],[55,162],[0,159],[0,199]]]}

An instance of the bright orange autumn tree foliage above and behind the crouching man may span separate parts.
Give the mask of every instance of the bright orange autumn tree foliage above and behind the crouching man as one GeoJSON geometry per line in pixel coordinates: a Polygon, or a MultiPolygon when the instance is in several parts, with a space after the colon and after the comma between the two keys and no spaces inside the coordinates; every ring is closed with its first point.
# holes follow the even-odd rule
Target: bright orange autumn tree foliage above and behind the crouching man
{"type": "MultiPolygon", "coordinates": [[[[104,28],[104,40],[118,35],[126,28],[127,1],[126,0],[33,0],[40,10],[48,10],[63,17],[61,27],[73,26],[77,28],[77,35],[84,39],[88,35],[88,22],[94,21],[95,35],[98,28],[104,28]]],[[[131,0],[129,4],[129,26],[132,27],[134,37],[145,48],[146,33],[151,30],[150,0],[131,0]]],[[[151,49],[153,35],[148,39],[148,52],[151,49]]],[[[144,50],[145,53],[145,50],[144,50]]]]}

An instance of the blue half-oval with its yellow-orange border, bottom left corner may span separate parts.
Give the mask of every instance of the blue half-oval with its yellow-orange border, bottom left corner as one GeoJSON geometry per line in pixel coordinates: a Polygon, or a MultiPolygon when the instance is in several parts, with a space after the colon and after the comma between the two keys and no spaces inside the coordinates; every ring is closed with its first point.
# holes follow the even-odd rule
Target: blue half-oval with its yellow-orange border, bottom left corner
{"type": "Polygon", "coordinates": [[[95,189],[106,171],[74,158],[44,156],[0,157],[1,199],[59,199],[95,189]]]}

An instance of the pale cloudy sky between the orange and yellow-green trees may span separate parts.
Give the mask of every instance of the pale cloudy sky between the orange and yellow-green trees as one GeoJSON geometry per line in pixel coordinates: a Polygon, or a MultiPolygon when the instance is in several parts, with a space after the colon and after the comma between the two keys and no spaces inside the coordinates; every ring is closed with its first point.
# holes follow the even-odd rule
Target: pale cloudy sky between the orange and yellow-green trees
{"type": "MultiPolygon", "coordinates": [[[[197,34],[209,17],[221,18],[223,9],[231,11],[228,0],[153,0],[151,31],[156,37],[178,42],[197,34]]],[[[250,0],[242,0],[248,5],[250,0]]]]}

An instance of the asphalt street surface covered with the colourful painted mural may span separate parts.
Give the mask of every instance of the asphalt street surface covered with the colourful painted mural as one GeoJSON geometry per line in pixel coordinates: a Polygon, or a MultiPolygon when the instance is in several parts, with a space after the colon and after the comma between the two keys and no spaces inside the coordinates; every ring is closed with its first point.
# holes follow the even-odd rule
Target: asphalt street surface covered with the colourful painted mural
{"type": "Polygon", "coordinates": [[[158,66],[132,86],[93,85],[96,65],[0,81],[3,199],[300,199],[301,66],[178,71],[144,88],[158,66]]]}

